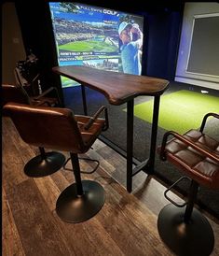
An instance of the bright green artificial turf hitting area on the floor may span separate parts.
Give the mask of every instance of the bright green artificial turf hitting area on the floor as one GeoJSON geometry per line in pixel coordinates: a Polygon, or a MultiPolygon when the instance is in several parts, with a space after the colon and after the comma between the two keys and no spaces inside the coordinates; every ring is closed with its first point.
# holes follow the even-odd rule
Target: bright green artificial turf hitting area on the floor
{"type": "MultiPolygon", "coordinates": [[[[134,115],[152,122],[154,101],[134,106],[134,115]]],[[[203,116],[208,112],[219,112],[219,98],[182,90],[160,97],[158,126],[184,134],[190,129],[198,129],[203,116]]]]}

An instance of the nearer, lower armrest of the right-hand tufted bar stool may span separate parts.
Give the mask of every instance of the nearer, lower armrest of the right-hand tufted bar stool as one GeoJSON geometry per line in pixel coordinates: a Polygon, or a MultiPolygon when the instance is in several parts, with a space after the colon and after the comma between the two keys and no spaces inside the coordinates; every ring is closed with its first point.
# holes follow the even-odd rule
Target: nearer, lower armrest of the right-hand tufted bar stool
{"type": "Polygon", "coordinates": [[[216,156],[215,154],[213,154],[211,151],[209,151],[207,149],[200,148],[197,144],[195,144],[192,141],[186,139],[184,135],[179,135],[179,134],[177,134],[176,132],[173,132],[173,131],[167,132],[163,136],[163,141],[162,141],[161,150],[160,150],[160,159],[162,161],[166,160],[165,148],[166,148],[167,139],[168,139],[169,135],[173,135],[174,137],[176,137],[180,141],[184,142],[186,145],[190,146],[193,149],[196,149],[198,152],[204,154],[206,157],[208,157],[208,158],[212,159],[213,161],[219,163],[219,157],[216,156]]]}

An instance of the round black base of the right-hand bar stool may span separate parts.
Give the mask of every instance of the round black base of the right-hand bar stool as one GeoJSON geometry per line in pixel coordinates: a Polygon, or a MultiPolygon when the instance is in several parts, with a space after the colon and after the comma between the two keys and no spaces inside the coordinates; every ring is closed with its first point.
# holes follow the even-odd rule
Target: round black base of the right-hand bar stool
{"type": "Polygon", "coordinates": [[[165,206],[158,215],[158,233],[177,255],[210,255],[214,236],[209,221],[193,208],[191,220],[184,222],[185,207],[165,206]]]}

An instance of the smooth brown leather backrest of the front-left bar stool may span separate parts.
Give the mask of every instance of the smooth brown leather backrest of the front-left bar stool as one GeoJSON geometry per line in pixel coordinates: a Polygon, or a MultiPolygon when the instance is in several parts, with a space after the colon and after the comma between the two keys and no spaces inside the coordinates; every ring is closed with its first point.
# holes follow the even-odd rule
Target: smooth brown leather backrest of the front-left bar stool
{"type": "Polygon", "coordinates": [[[14,103],[7,104],[4,109],[26,143],[74,153],[84,151],[85,145],[70,109],[14,103]]]}

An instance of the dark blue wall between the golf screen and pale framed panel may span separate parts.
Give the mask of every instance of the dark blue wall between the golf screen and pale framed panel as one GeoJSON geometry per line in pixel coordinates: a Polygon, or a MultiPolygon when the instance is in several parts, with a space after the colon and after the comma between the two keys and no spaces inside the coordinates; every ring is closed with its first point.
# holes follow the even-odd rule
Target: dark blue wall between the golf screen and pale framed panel
{"type": "Polygon", "coordinates": [[[164,10],[145,17],[144,75],[174,80],[183,10],[164,10]]]}

